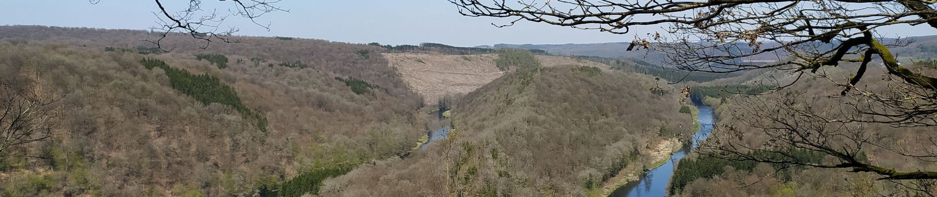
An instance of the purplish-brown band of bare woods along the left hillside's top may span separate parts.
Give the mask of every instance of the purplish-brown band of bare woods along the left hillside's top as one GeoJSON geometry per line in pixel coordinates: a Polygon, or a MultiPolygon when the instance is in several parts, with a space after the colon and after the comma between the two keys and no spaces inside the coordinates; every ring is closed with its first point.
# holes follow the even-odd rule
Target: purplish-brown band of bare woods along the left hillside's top
{"type": "MultiPolygon", "coordinates": [[[[100,49],[110,46],[140,46],[142,43],[140,40],[147,38],[152,38],[149,32],[140,30],[37,25],[0,26],[0,39],[45,40],[100,49]]],[[[372,84],[379,84],[394,97],[416,101],[404,102],[407,105],[419,106],[419,96],[408,89],[394,69],[387,66],[384,58],[376,52],[371,52],[370,58],[359,58],[361,55],[357,53],[362,49],[383,50],[380,47],[320,39],[292,38],[287,41],[260,36],[232,36],[231,39],[238,39],[240,42],[212,43],[210,48],[201,49],[204,43],[191,39],[191,36],[171,34],[162,39],[160,44],[165,49],[172,49],[173,53],[214,53],[224,54],[230,58],[237,55],[243,58],[257,57],[272,62],[295,63],[298,60],[308,66],[315,65],[320,72],[332,73],[334,76],[353,76],[372,84]]],[[[332,77],[325,77],[325,79],[332,80],[332,77]]]]}

